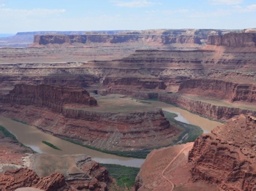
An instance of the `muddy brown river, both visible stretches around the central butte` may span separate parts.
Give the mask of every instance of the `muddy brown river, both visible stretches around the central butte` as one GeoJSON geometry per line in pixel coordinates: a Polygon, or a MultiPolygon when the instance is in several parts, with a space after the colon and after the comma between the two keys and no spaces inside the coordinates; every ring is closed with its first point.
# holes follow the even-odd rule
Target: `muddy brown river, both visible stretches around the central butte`
{"type": "MultiPolygon", "coordinates": [[[[218,125],[222,125],[220,122],[208,120],[206,118],[200,117],[197,114],[192,114],[184,109],[177,108],[176,106],[165,104],[161,101],[147,101],[151,102],[151,106],[162,108],[167,112],[174,112],[178,114],[176,120],[181,122],[191,123],[193,125],[198,125],[204,130],[205,133],[210,132],[213,128],[218,125]]],[[[31,149],[39,153],[48,153],[53,155],[76,155],[76,154],[86,154],[91,156],[93,160],[99,163],[110,163],[118,165],[127,165],[132,167],[140,167],[144,162],[143,159],[128,158],[128,157],[118,157],[116,155],[110,155],[103,152],[98,152],[93,149],[88,149],[86,147],[81,147],[77,144],[72,144],[68,141],[52,136],[48,133],[44,133],[34,126],[26,125],[21,122],[16,122],[6,117],[0,116],[0,125],[7,130],[10,130],[17,139],[25,144],[31,149]],[[48,147],[43,144],[42,141],[48,141],[51,144],[59,147],[61,151],[48,147]]]]}

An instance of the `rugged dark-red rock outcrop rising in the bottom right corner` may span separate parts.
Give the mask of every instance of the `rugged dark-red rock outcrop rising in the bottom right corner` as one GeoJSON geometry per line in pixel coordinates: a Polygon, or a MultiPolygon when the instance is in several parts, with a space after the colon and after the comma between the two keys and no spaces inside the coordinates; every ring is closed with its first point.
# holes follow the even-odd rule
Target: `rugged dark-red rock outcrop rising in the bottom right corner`
{"type": "Polygon", "coordinates": [[[219,190],[255,190],[255,117],[241,116],[196,139],[189,152],[192,180],[219,190]],[[253,118],[253,120],[252,120],[253,118]]]}

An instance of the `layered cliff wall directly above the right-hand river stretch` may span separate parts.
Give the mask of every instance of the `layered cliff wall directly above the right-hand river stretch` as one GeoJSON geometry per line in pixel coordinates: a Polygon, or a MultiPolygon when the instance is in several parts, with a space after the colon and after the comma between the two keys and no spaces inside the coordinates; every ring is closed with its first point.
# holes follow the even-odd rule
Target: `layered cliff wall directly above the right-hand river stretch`
{"type": "Polygon", "coordinates": [[[249,109],[218,106],[204,101],[195,101],[177,94],[161,93],[159,94],[158,98],[159,101],[166,101],[170,104],[176,104],[177,106],[181,106],[184,109],[189,110],[190,112],[202,114],[206,117],[211,117],[212,119],[217,120],[228,120],[239,114],[249,114],[255,112],[249,109]]]}

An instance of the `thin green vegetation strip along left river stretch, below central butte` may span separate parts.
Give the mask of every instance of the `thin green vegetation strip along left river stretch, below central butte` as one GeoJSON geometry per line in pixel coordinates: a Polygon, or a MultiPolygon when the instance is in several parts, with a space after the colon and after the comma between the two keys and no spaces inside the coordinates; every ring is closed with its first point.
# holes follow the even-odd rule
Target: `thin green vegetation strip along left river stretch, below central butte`
{"type": "Polygon", "coordinates": [[[151,149],[143,149],[143,150],[139,150],[139,151],[110,151],[110,150],[106,150],[106,149],[98,149],[96,147],[91,147],[87,144],[83,144],[79,141],[74,141],[71,139],[63,139],[64,141],[69,141],[72,144],[78,144],[82,147],[86,147],[89,149],[94,149],[97,150],[99,152],[104,152],[104,153],[108,153],[111,155],[117,155],[120,157],[135,157],[135,158],[146,158],[146,156],[148,155],[149,152],[151,152],[151,149]]]}

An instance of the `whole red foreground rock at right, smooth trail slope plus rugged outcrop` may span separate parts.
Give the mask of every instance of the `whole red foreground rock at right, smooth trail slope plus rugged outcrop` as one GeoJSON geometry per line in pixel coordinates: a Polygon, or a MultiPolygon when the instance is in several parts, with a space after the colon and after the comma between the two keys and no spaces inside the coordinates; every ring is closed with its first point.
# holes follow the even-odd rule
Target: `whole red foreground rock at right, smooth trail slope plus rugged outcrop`
{"type": "Polygon", "coordinates": [[[152,151],[135,189],[255,190],[255,128],[256,117],[241,115],[198,137],[194,145],[152,151]]]}

